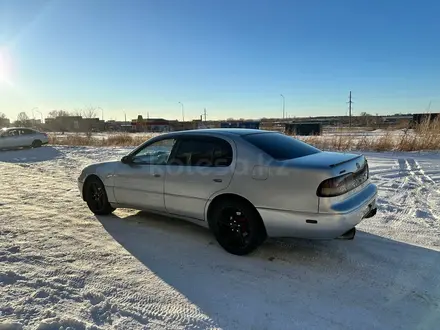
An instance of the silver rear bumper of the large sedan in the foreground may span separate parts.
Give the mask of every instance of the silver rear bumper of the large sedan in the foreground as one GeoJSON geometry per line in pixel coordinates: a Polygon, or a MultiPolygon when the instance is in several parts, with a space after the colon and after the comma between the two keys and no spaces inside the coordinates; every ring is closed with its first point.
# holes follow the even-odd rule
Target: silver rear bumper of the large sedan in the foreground
{"type": "Polygon", "coordinates": [[[338,238],[363,219],[376,214],[377,187],[369,184],[362,194],[362,203],[353,207],[346,203],[348,211],[343,209],[343,204],[338,204],[338,211],[334,213],[305,213],[286,210],[257,208],[266,231],[270,237],[297,237],[310,239],[338,238]]]}

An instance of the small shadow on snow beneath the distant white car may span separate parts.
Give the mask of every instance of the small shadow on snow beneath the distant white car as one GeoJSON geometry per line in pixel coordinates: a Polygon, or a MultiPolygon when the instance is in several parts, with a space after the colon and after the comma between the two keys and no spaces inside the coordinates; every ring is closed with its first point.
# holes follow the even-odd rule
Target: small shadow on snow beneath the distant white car
{"type": "Polygon", "coordinates": [[[0,150],[0,162],[4,163],[38,163],[52,160],[59,156],[61,156],[61,152],[50,146],[0,150]]]}

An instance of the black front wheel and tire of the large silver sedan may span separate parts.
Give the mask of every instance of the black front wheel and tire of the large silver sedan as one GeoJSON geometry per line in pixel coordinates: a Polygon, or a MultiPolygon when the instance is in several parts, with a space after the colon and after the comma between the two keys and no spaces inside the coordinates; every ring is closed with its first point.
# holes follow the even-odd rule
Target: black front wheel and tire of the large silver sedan
{"type": "Polygon", "coordinates": [[[96,215],[109,215],[115,210],[108,201],[104,184],[97,177],[86,180],[84,199],[90,211],[96,215]]]}

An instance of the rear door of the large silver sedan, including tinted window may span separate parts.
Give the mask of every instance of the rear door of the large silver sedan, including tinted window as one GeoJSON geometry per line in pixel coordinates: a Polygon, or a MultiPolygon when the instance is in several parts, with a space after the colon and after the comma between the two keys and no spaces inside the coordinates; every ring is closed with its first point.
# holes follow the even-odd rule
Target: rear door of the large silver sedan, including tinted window
{"type": "Polygon", "coordinates": [[[234,173],[233,141],[208,136],[179,138],[165,177],[165,207],[175,215],[204,220],[208,199],[226,189],[234,173]]]}

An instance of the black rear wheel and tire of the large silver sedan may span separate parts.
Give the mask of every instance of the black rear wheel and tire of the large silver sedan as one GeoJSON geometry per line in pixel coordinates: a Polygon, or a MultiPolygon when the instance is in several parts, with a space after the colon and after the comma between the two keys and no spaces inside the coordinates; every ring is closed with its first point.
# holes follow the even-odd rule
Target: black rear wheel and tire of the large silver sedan
{"type": "Polygon", "coordinates": [[[246,255],[266,240],[263,220],[253,205],[238,199],[216,203],[208,219],[217,242],[227,252],[246,255]]]}

